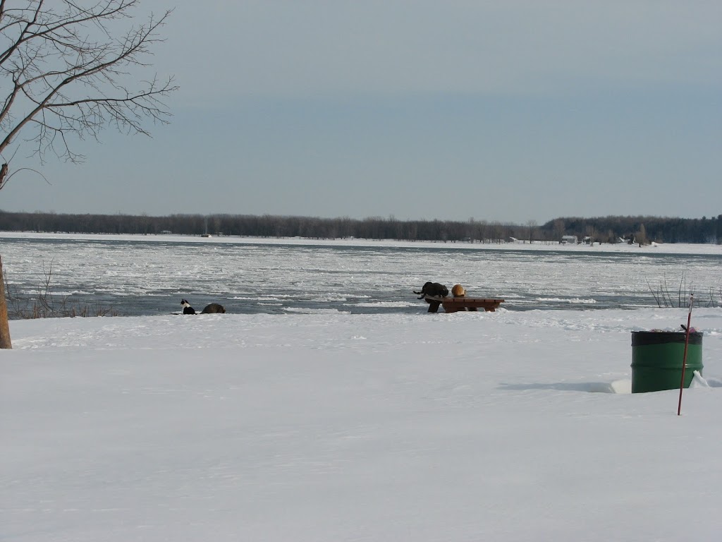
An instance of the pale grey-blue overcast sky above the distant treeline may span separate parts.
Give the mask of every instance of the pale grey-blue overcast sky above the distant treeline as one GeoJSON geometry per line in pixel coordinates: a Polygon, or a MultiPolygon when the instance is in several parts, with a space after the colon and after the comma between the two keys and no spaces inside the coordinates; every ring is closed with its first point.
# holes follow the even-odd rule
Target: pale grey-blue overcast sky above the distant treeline
{"type": "Polygon", "coordinates": [[[19,152],[1,210],[544,223],[722,213],[719,0],[144,0],[152,139],[19,152]]]}

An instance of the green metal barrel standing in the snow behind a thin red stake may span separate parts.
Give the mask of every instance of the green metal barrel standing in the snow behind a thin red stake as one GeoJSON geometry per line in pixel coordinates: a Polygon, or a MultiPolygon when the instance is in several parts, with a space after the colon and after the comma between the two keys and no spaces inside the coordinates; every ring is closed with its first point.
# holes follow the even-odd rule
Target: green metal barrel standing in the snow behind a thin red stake
{"type": "MultiPolygon", "coordinates": [[[[632,331],[632,393],[679,390],[685,332],[632,331]]],[[[702,374],[702,332],[690,333],[684,387],[702,374]]]]}

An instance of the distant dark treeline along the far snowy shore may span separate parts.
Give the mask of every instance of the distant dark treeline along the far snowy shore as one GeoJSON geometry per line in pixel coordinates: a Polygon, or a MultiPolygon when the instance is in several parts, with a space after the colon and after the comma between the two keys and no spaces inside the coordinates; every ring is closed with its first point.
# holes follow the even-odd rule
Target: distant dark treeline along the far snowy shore
{"type": "Polygon", "coordinates": [[[0,211],[0,231],[53,233],[204,233],[227,236],[403,239],[408,241],[560,241],[564,235],[594,242],[615,243],[624,238],[645,243],[722,244],[722,215],[717,218],[659,218],[608,216],[556,218],[539,225],[486,220],[396,220],[372,217],[313,218],[275,215],[69,215],[0,211]]]}

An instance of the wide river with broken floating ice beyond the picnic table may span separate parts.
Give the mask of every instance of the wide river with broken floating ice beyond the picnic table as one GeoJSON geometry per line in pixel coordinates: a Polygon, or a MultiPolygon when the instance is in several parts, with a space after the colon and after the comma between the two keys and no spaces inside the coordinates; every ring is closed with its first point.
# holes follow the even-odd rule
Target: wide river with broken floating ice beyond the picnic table
{"type": "Polygon", "coordinates": [[[456,283],[509,310],[657,306],[666,282],[700,306],[722,304],[722,246],[310,241],[183,236],[0,233],[13,296],[32,296],[50,274],[70,304],[123,316],[168,314],[181,298],[234,313],[416,313],[412,290],[456,283]]]}

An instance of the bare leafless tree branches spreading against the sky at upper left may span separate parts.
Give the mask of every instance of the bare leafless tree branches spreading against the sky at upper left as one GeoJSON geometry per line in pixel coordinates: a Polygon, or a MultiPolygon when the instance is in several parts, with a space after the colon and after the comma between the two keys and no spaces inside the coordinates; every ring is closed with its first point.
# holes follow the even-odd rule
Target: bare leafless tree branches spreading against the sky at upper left
{"type": "Polygon", "coordinates": [[[173,77],[123,83],[131,68],[149,66],[171,13],[118,33],[118,21],[139,2],[23,0],[10,9],[0,1],[0,152],[22,133],[41,163],[48,152],[79,162],[84,157],[71,150],[70,136],[97,139],[109,126],[149,135],[147,121],[168,123],[164,100],[178,88],[173,77]]]}

